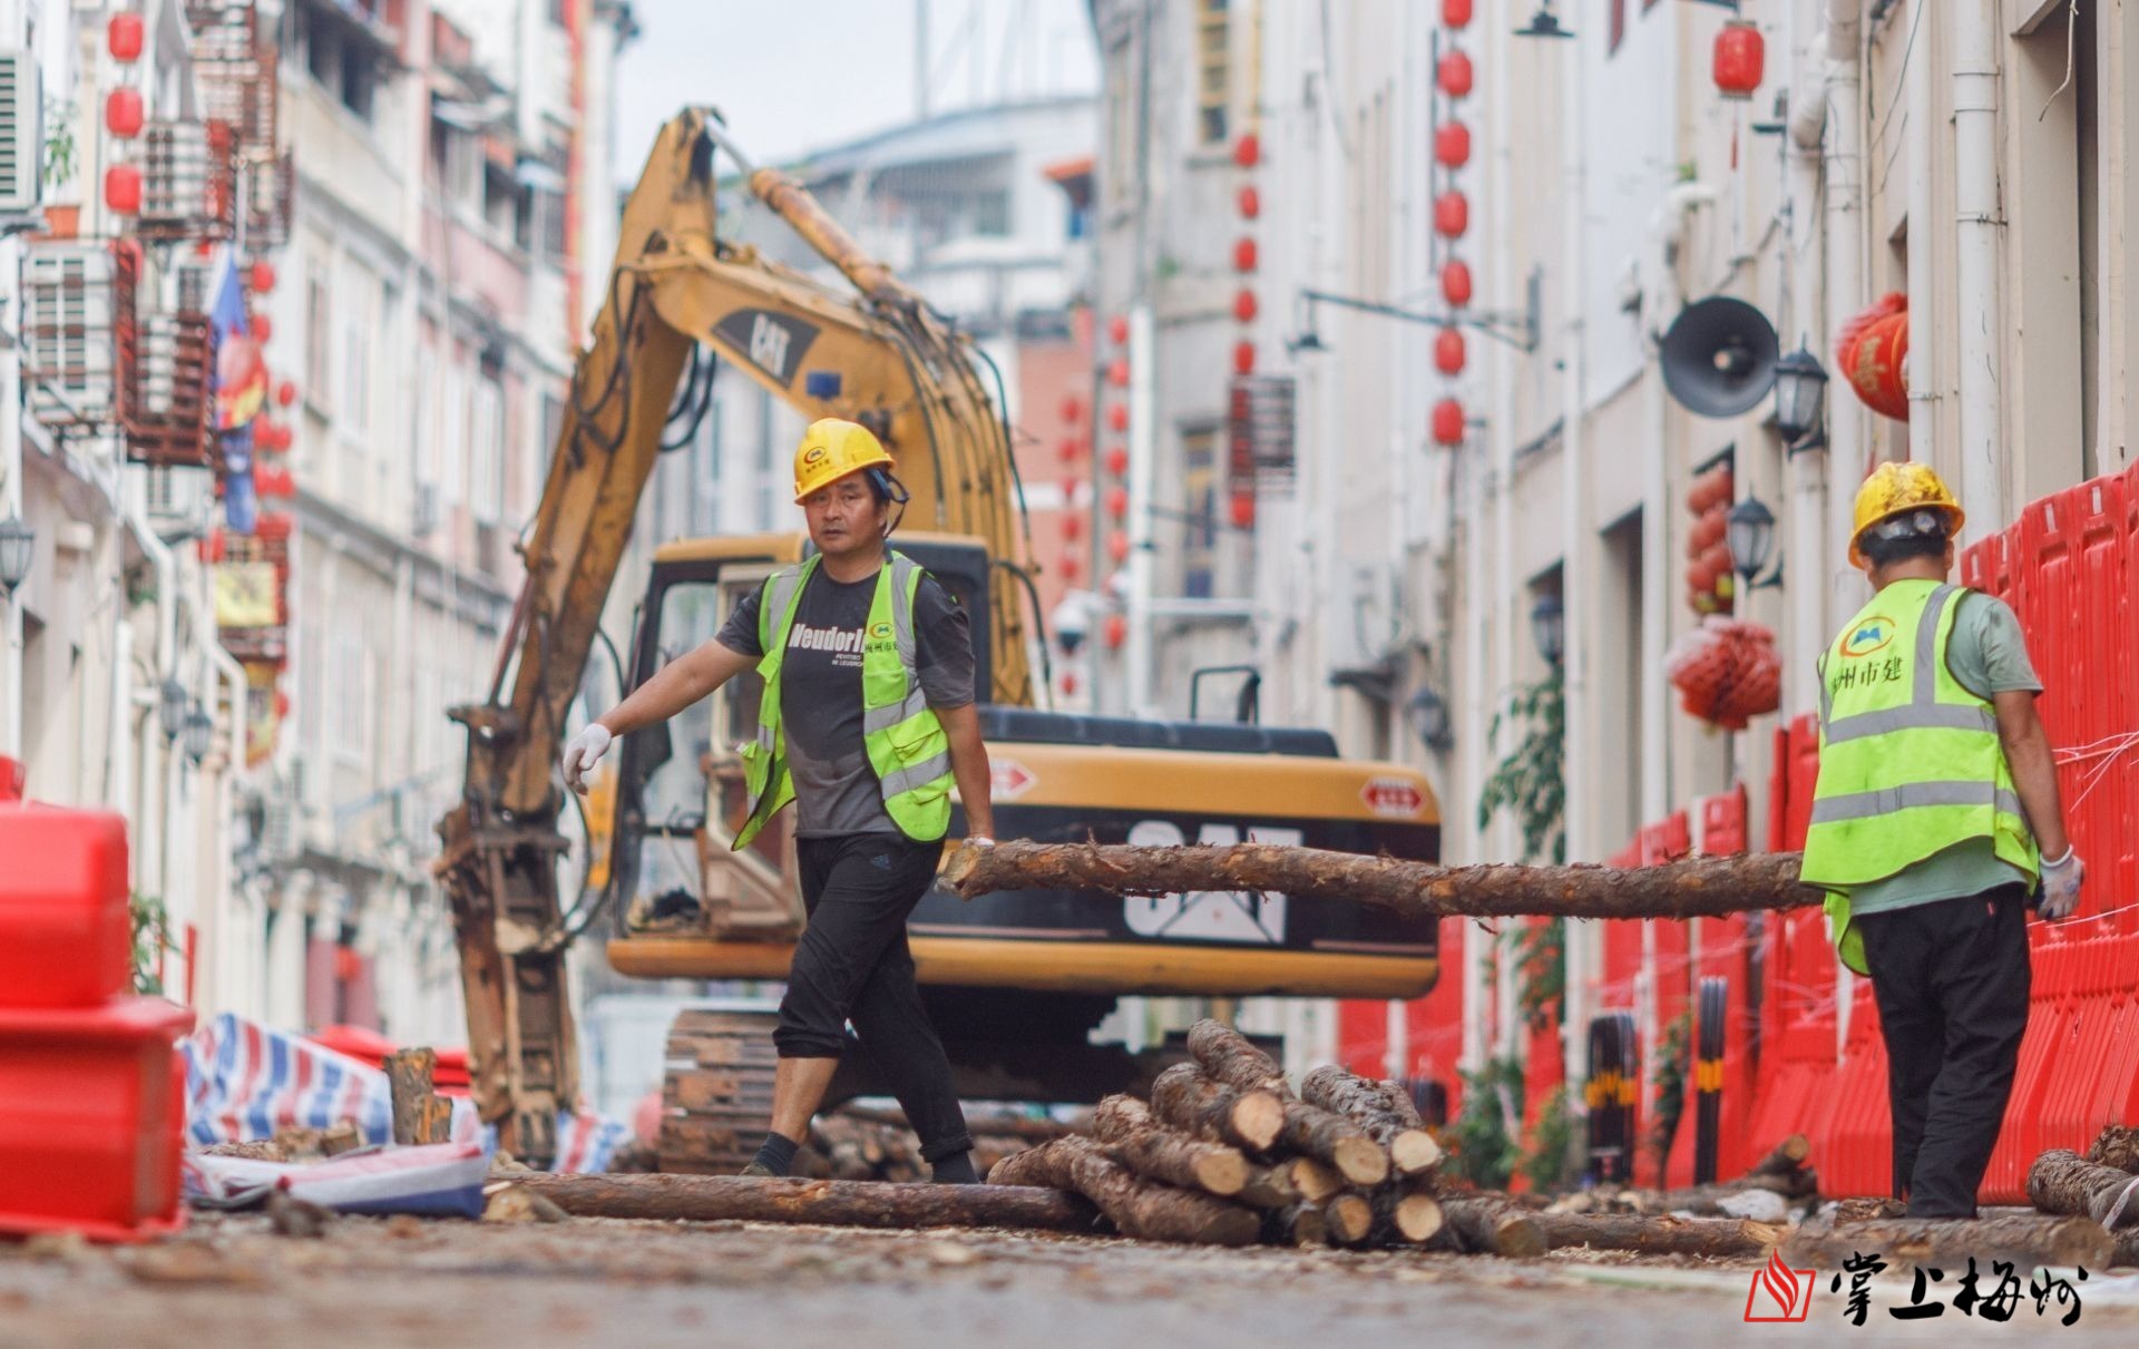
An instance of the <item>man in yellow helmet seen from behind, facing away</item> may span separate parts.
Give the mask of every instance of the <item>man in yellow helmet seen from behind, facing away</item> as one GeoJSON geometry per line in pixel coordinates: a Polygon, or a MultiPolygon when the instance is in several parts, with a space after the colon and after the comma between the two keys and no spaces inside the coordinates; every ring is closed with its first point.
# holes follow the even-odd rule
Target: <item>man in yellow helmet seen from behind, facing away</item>
{"type": "Polygon", "coordinates": [[[1818,658],[1820,780],[1803,879],[1887,1037],[1893,1187],[1970,1219],[2028,1026],[2028,906],[2079,906],[2043,682],[2019,620],[1953,586],[1961,507],[1927,464],[1857,492],[1850,560],[1874,596],[1818,658]]]}

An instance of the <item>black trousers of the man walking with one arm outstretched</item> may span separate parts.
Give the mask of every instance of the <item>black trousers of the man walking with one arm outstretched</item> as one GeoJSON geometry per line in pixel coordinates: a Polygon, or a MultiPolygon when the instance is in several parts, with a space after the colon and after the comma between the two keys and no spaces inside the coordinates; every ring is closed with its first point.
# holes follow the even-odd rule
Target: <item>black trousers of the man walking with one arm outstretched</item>
{"type": "Polygon", "coordinates": [[[903,834],[796,840],[809,926],[772,1033],[781,1058],[838,1058],[847,1050],[845,1026],[853,1022],[928,1161],[973,1146],[907,947],[907,915],[935,881],[941,857],[943,844],[903,834]]]}

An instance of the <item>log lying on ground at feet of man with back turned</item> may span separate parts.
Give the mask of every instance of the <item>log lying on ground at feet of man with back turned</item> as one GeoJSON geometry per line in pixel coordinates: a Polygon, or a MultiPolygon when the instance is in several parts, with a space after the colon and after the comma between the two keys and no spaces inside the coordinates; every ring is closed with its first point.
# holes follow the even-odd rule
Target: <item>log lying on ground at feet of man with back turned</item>
{"type": "Polygon", "coordinates": [[[1970,1255],[2015,1266],[2107,1268],[2115,1242],[2094,1219],[2015,1214],[1998,1219],[1874,1219],[1801,1225],[1782,1244],[1782,1257],[1797,1268],[1840,1270],[1852,1255],[1882,1255],[1906,1266],[1951,1270],[1970,1255]]]}

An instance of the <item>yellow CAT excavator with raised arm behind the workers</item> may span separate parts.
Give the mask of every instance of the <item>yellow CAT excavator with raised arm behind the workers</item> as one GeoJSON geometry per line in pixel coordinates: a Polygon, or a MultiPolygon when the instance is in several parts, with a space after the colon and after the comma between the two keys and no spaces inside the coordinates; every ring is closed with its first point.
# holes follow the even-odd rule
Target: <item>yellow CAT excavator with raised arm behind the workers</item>
{"type": "MultiPolygon", "coordinates": [[[[438,825],[438,872],[460,941],[473,1090],[501,1146],[548,1165],[556,1110],[578,1103],[565,949],[597,921],[614,968],[648,979],[783,979],[802,930],[787,821],[732,849],[744,791],[725,746],[751,735],[755,678],[625,740],[605,791],[605,874],[569,911],[560,904],[567,708],[657,455],[704,413],[717,361],[809,419],[868,425],[896,455],[913,498],[898,547],[986,614],[973,633],[1001,836],[1437,857],[1427,782],[1392,763],[1339,759],[1324,731],[1042,710],[1031,669],[1044,637],[1001,378],[990,398],[986,357],[965,334],[871,261],[800,184],[753,169],[714,113],[689,109],[661,130],[625,203],[490,697],[451,714],[468,729],[468,759],[462,804],[438,825]],[[717,150],[843,286],[721,237],[717,150]]],[[[627,686],[712,637],[806,547],[800,530],[661,545],[627,686]]],[[[960,834],[954,817],[952,838],[960,834]]],[[[1281,894],[960,902],[939,889],[915,909],[911,945],[960,1092],[997,1101],[1093,1101],[1149,1080],[1164,1052],[1089,1043],[1125,994],[1410,998],[1435,979],[1431,924],[1281,894]]],[[[678,1020],[663,1169],[749,1161],[770,1118],[770,1022],[755,1011],[678,1020]]],[[[879,1090],[866,1048],[851,1045],[832,1099],[879,1090]]]]}

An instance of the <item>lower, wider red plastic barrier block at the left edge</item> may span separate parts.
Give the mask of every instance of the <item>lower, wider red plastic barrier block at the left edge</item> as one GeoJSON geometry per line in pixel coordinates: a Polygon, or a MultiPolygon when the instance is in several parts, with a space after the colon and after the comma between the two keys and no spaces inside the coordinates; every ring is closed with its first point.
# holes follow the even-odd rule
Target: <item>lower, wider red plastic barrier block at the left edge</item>
{"type": "Polygon", "coordinates": [[[0,1231],[133,1242],[186,1221],[193,1013],[163,998],[0,1011],[0,1231]]]}

